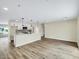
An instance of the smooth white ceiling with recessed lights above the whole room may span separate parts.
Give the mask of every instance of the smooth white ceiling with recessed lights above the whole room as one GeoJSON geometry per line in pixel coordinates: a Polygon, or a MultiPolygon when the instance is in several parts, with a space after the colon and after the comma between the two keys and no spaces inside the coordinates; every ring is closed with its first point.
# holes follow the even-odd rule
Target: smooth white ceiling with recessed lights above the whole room
{"type": "Polygon", "coordinates": [[[78,0],[0,0],[0,23],[22,17],[25,21],[50,22],[76,16],[78,0]]]}

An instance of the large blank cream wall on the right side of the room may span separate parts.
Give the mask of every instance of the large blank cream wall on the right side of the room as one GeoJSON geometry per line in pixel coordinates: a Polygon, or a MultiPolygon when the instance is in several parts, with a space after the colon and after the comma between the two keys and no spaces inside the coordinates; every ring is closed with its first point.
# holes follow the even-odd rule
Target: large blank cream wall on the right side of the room
{"type": "Polygon", "coordinates": [[[45,24],[45,37],[76,42],[76,19],[45,24]]]}

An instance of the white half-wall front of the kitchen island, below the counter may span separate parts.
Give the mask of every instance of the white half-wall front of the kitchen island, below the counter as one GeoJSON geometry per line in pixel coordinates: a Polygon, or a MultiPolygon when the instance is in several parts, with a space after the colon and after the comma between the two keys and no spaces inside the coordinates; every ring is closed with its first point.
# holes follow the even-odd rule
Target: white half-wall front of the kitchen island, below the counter
{"type": "Polygon", "coordinates": [[[14,45],[15,47],[19,47],[38,40],[41,40],[41,35],[39,33],[32,33],[32,34],[19,33],[14,38],[14,45]]]}

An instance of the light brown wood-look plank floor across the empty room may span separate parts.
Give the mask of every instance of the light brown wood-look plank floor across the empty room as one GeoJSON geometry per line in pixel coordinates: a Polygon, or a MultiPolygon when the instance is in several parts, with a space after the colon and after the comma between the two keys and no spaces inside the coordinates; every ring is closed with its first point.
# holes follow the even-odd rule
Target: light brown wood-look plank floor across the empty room
{"type": "Polygon", "coordinates": [[[79,50],[53,40],[40,40],[18,48],[0,40],[0,59],[79,59],[79,50]]]}

